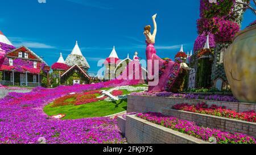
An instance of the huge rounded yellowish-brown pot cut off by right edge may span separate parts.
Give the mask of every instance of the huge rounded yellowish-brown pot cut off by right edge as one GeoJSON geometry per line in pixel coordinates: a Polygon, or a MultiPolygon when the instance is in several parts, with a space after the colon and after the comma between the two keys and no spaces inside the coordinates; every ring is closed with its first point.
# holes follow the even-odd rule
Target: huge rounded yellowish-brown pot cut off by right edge
{"type": "Polygon", "coordinates": [[[224,54],[226,77],[241,102],[256,102],[256,25],[237,33],[224,54]]]}

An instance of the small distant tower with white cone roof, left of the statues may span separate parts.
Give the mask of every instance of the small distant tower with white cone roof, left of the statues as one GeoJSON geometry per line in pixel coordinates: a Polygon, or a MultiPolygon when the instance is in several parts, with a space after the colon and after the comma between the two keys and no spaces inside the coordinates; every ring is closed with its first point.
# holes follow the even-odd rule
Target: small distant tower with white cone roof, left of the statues
{"type": "Polygon", "coordinates": [[[115,68],[118,64],[119,58],[117,56],[117,52],[115,51],[115,47],[113,47],[112,52],[109,57],[106,58],[105,64],[105,74],[104,79],[114,79],[115,78],[115,68]]]}

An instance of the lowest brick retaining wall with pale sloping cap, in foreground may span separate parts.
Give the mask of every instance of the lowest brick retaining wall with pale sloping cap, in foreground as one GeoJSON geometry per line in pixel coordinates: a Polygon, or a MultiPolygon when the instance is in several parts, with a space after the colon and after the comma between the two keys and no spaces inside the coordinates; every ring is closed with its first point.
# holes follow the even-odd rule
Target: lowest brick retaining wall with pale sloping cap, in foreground
{"type": "Polygon", "coordinates": [[[134,115],[126,116],[125,136],[130,144],[209,144],[134,115]]]}

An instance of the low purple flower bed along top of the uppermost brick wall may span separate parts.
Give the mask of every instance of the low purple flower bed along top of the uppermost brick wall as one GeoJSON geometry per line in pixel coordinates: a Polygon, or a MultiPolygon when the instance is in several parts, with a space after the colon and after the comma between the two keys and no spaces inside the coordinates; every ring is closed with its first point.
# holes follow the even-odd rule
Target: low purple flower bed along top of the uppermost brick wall
{"type": "Polygon", "coordinates": [[[155,96],[155,97],[173,97],[173,98],[185,98],[185,99],[205,99],[205,100],[219,100],[224,102],[238,102],[232,95],[201,95],[201,94],[179,94],[170,92],[154,92],[148,93],[147,91],[139,93],[131,93],[131,95],[138,96],[155,96]]]}

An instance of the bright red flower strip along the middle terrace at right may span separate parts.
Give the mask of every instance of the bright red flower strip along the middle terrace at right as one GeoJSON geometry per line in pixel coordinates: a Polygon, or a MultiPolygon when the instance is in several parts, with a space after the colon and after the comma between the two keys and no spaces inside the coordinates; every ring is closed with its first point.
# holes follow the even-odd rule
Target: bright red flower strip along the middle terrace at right
{"type": "Polygon", "coordinates": [[[212,105],[208,108],[208,105],[205,103],[194,104],[176,104],[172,106],[175,110],[183,110],[189,112],[196,112],[200,114],[207,114],[213,116],[220,116],[224,118],[239,119],[245,120],[247,122],[256,122],[256,112],[236,112],[236,110],[227,110],[226,107],[218,107],[212,105]]]}

